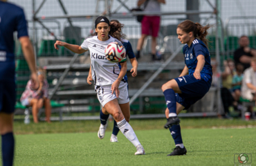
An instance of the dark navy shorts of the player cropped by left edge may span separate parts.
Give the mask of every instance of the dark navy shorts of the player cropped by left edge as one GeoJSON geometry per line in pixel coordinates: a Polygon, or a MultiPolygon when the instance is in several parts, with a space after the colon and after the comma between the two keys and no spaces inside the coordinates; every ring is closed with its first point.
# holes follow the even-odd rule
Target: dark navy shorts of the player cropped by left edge
{"type": "Polygon", "coordinates": [[[0,112],[14,113],[16,102],[15,82],[0,81],[0,112]]]}

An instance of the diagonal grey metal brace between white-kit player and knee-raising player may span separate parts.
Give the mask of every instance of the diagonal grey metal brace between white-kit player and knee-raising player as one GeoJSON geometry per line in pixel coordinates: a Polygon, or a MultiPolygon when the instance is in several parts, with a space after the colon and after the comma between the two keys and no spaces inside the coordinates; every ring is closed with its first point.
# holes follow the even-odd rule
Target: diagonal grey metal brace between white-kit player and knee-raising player
{"type": "Polygon", "coordinates": [[[142,93],[147,86],[149,86],[149,84],[151,82],[153,82],[155,80],[155,78],[161,73],[161,71],[163,71],[163,69],[170,64],[170,62],[172,62],[172,59],[174,59],[174,57],[176,57],[176,55],[178,55],[178,53],[181,51],[181,48],[183,47],[183,45],[179,46],[174,53],[165,61],[165,63],[162,64],[162,66],[160,68],[158,68],[158,70],[154,73],[154,75],[152,75],[149,80],[147,80],[147,82],[145,82],[145,84],[143,84],[143,86],[134,94],[134,96],[131,98],[130,100],[130,104],[132,104],[134,102],[134,100],[136,100],[136,98],[138,98],[138,96],[140,95],[140,93],[142,93]]]}

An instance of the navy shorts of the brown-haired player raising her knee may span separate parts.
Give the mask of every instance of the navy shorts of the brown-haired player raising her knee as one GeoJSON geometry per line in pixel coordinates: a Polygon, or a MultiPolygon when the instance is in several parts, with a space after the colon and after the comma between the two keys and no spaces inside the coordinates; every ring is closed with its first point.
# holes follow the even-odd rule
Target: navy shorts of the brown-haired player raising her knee
{"type": "Polygon", "coordinates": [[[176,93],[176,102],[185,107],[185,109],[190,108],[192,104],[203,98],[212,84],[212,80],[208,82],[203,79],[196,80],[194,75],[185,75],[174,80],[176,80],[179,89],[181,89],[181,93],[176,93]]]}

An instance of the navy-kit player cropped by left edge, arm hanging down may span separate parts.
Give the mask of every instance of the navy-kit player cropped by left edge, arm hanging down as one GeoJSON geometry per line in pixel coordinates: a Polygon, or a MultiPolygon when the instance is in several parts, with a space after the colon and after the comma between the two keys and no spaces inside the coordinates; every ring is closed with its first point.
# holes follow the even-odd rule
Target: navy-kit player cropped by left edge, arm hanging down
{"type": "Polygon", "coordinates": [[[28,37],[24,10],[0,0],[0,133],[3,166],[12,165],[15,152],[15,138],[12,132],[16,102],[15,53],[13,51],[15,31],[31,71],[32,88],[38,89],[35,55],[28,37]]]}

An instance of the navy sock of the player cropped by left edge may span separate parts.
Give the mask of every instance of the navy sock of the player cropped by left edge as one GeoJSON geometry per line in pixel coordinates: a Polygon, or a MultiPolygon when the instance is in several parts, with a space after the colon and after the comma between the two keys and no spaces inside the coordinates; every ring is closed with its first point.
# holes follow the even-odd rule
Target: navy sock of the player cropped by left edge
{"type": "Polygon", "coordinates": [[[2,158],[3,166],[12,166],[15,153],[15,138],[13,133],[6,133],[2,137],[2,158]]]}

